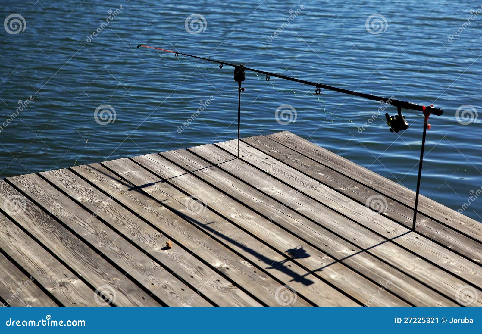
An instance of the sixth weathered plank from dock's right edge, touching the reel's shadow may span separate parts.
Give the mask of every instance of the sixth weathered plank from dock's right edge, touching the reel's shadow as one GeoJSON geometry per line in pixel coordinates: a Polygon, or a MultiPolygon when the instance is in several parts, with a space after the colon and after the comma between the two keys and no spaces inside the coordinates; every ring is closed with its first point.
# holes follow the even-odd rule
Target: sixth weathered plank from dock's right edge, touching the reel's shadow
{"type": "MultiPolygon", "coordinates": [[[[202,202],[206,203],[211,209],[222,214],[224,217],[228,217],[236,225],[265,240],[265,242],[278,249],[278,251],[284,253],[288,250],[294,250],[300,245],[300,241],[292,234],[287,233],[274,224],[268,223],[265,218],[235,200],[228,198],[194,175],[187,174],[161,156],[146,155],[134,157],[133,159],[148,168],[151,172],[161,176],[166,182],[181,188],[198,199],[202,198],[202,202]]],[[[294,262],[301,264],[308,268],[308,270],[316,270],[324,267],[323,270],[317,271],[315,275],[320,276],[326,281],[330,281],[337,288],[345,291],[363,304],[367,304],[368,300],[374,294],[380,293],[380,288],[377,284],[368,281],[341,263],[334,263],[331,257],[326,256],[326,254],[323,254],[313,247],[306,244],[302,244],[302,246],[310,256],[295,258],[293,260],[294,262]]],[[[384,296],[379,301],[382,304],[387,306],[407,305],[407,303],[386,290],[383,291],[382,294],[384,294],[384,296]]]]}

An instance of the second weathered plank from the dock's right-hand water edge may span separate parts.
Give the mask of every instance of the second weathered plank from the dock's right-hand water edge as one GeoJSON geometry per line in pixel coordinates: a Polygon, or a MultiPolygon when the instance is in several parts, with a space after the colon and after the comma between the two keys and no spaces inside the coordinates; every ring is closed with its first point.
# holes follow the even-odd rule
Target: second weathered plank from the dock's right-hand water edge
{"type": "MultiPolygon", "coordinates": [[[[383,202],[387,205],[383,205],[383,210],[378,210],[378,212],[394,219],[405,227],[412,227],[413,209],[381,195],[362,183],[350,179],[344,174],[338,173],[315,160],[311,160],[267,136],[244,138],[243,141],[288,166],[307,174],[324,185],[339,191],[343,195],[358,201],[362,205],[372,208],[374,207],[374,201],[379,203],[380,200],[385,199],[383,202]]],[[[429,240],[437,241],[470,260],[475,262],[482,260],[482,243],[473,242],[469,237],[451,228],[444,227],[439,222],[423,214],[417,215],[416,231],[429,240]]]]}

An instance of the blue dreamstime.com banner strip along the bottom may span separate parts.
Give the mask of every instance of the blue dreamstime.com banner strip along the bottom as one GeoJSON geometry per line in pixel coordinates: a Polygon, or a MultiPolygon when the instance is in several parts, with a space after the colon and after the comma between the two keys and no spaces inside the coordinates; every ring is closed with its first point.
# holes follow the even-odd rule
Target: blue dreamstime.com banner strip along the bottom
{"type": "Polygon", "coordinates": [[[480,333],[480,316],[476,307],[5,307],[0,333],[480,333]]]}

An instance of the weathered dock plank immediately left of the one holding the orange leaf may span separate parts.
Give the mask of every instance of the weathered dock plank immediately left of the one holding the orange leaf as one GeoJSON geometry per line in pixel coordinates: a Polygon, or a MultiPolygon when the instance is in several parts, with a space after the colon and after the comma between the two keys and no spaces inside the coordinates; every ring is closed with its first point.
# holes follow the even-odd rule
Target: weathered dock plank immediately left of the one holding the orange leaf
{"type": "MultiPolygon", "coordinates": [[[[16,176],[9,178],[9,181],[28,194],[37,205],[51,212],[76,234],[87,240],[99,253],[107,256],[167,306],[187,305],[194,291],[39,175],[16,176]]],[[[74,184],[71,187],[74,187],[74,184]]],[[[165,242],[163,244],[165,245],[165,242]]],[[[210,306],[201,297],[194,301],[193,306],[196,305],[210,306]]]]}

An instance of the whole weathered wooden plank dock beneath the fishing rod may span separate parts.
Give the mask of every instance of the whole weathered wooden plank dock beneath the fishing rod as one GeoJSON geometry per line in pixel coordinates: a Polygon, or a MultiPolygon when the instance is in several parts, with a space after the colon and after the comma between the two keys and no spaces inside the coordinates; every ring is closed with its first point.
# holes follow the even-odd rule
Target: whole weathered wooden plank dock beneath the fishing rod
{"type": "Polygon", "coordinates": [[[482,306],[482,225],[290,132],[0,180],[10,306],[482,306]],[[166,243],[170,241],[171,247],[166,243]]]}

